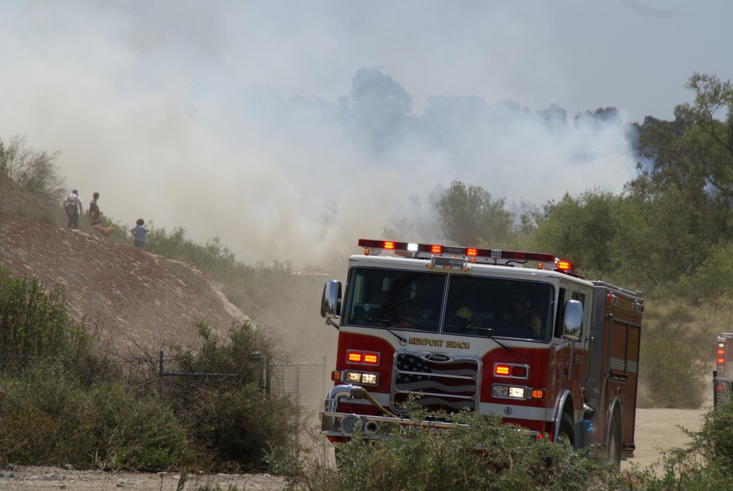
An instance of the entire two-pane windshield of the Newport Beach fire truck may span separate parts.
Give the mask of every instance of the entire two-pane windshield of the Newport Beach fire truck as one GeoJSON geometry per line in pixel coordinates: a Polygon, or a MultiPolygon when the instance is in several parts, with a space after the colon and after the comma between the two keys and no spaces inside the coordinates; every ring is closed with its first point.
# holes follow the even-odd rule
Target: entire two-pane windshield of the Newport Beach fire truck
{"type": "Polygon", "coordinates": [[[552,334],[555,291],[548,283],[355,267],[346,290],[345,325],[439,332],[442,324],[446,334],[541,341],[552,334]]]}

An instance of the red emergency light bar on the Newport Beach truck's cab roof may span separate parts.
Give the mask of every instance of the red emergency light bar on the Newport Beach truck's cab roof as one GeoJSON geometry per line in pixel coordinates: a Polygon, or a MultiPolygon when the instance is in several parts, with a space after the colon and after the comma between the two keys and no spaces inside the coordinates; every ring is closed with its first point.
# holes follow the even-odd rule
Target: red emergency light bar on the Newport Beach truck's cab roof
{"type": "MultiPolygon", "coordinates": [[[[441,257],[467,258],[471,263],[507,264],[509,262],[526,263],[536,261],[539,269],[550,269],[575,276],[575,265],[568,261],[560,261],[552,254],[539,252],[523,252],[512,250],[482,249],[480,247],[444,246],[441,244],[415,244],[412,242],[379,241],[359,239],[359,247],[364,247],[364,254],[379,255],[383,250],[393,251],[397,255],[430,259],[435,255],[441,257]]],[[[456,266],[458,266],[456,264],[456,266]]]]}

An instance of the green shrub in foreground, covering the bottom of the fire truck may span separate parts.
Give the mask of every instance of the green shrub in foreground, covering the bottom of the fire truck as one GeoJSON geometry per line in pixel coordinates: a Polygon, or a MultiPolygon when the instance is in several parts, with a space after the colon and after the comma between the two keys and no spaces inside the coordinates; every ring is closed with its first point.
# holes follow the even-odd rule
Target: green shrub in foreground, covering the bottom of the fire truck
{"type": "MultiPolygon", "coordinates": [[[[411,418],[420,418],[413,413],[411,418]]],[[[448,418],[448,417],[446,417],[448,418]]],[[[466,412],[449,418],[453,429],[415,429],[408,437],[399,429],[388,440],[355,437],[337,445],[339,470],[327,465],[306,467],[284,462],[291,489],[306,490],[615,490],[621,477],[581,452],[526,434],[466,412]],[[476,450],[480,448],[480,450],[476,450]]]]}

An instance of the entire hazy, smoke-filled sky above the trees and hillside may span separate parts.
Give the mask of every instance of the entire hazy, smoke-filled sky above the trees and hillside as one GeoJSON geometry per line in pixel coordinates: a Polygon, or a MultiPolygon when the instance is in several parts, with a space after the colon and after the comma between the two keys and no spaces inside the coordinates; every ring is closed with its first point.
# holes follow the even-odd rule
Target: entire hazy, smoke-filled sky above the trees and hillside
{"type": "Polygon", "coordinates": [[[318,263],[400,217],[429,235],[454,178],[510,206],[620,191],[626,123],[670,118],[693,71],[733,78],[731,19],[728,0],[5,0],[0,138],[59,150],[123,222],[318,263]],[[622,119],[573,120],[600,106],[622,119]]]}

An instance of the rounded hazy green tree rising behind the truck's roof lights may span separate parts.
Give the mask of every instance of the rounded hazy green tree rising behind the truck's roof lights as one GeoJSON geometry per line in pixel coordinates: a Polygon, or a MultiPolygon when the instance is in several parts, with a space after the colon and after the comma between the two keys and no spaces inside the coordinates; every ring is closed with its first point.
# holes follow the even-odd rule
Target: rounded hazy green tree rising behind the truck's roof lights
{"type": "Polygon", "coordinates": [[[482,186],[453,181],[435,206],[443,236],[456,244],[501,247],[512,233],[514,214],[504,198],[492,200],[482,186]]]}

